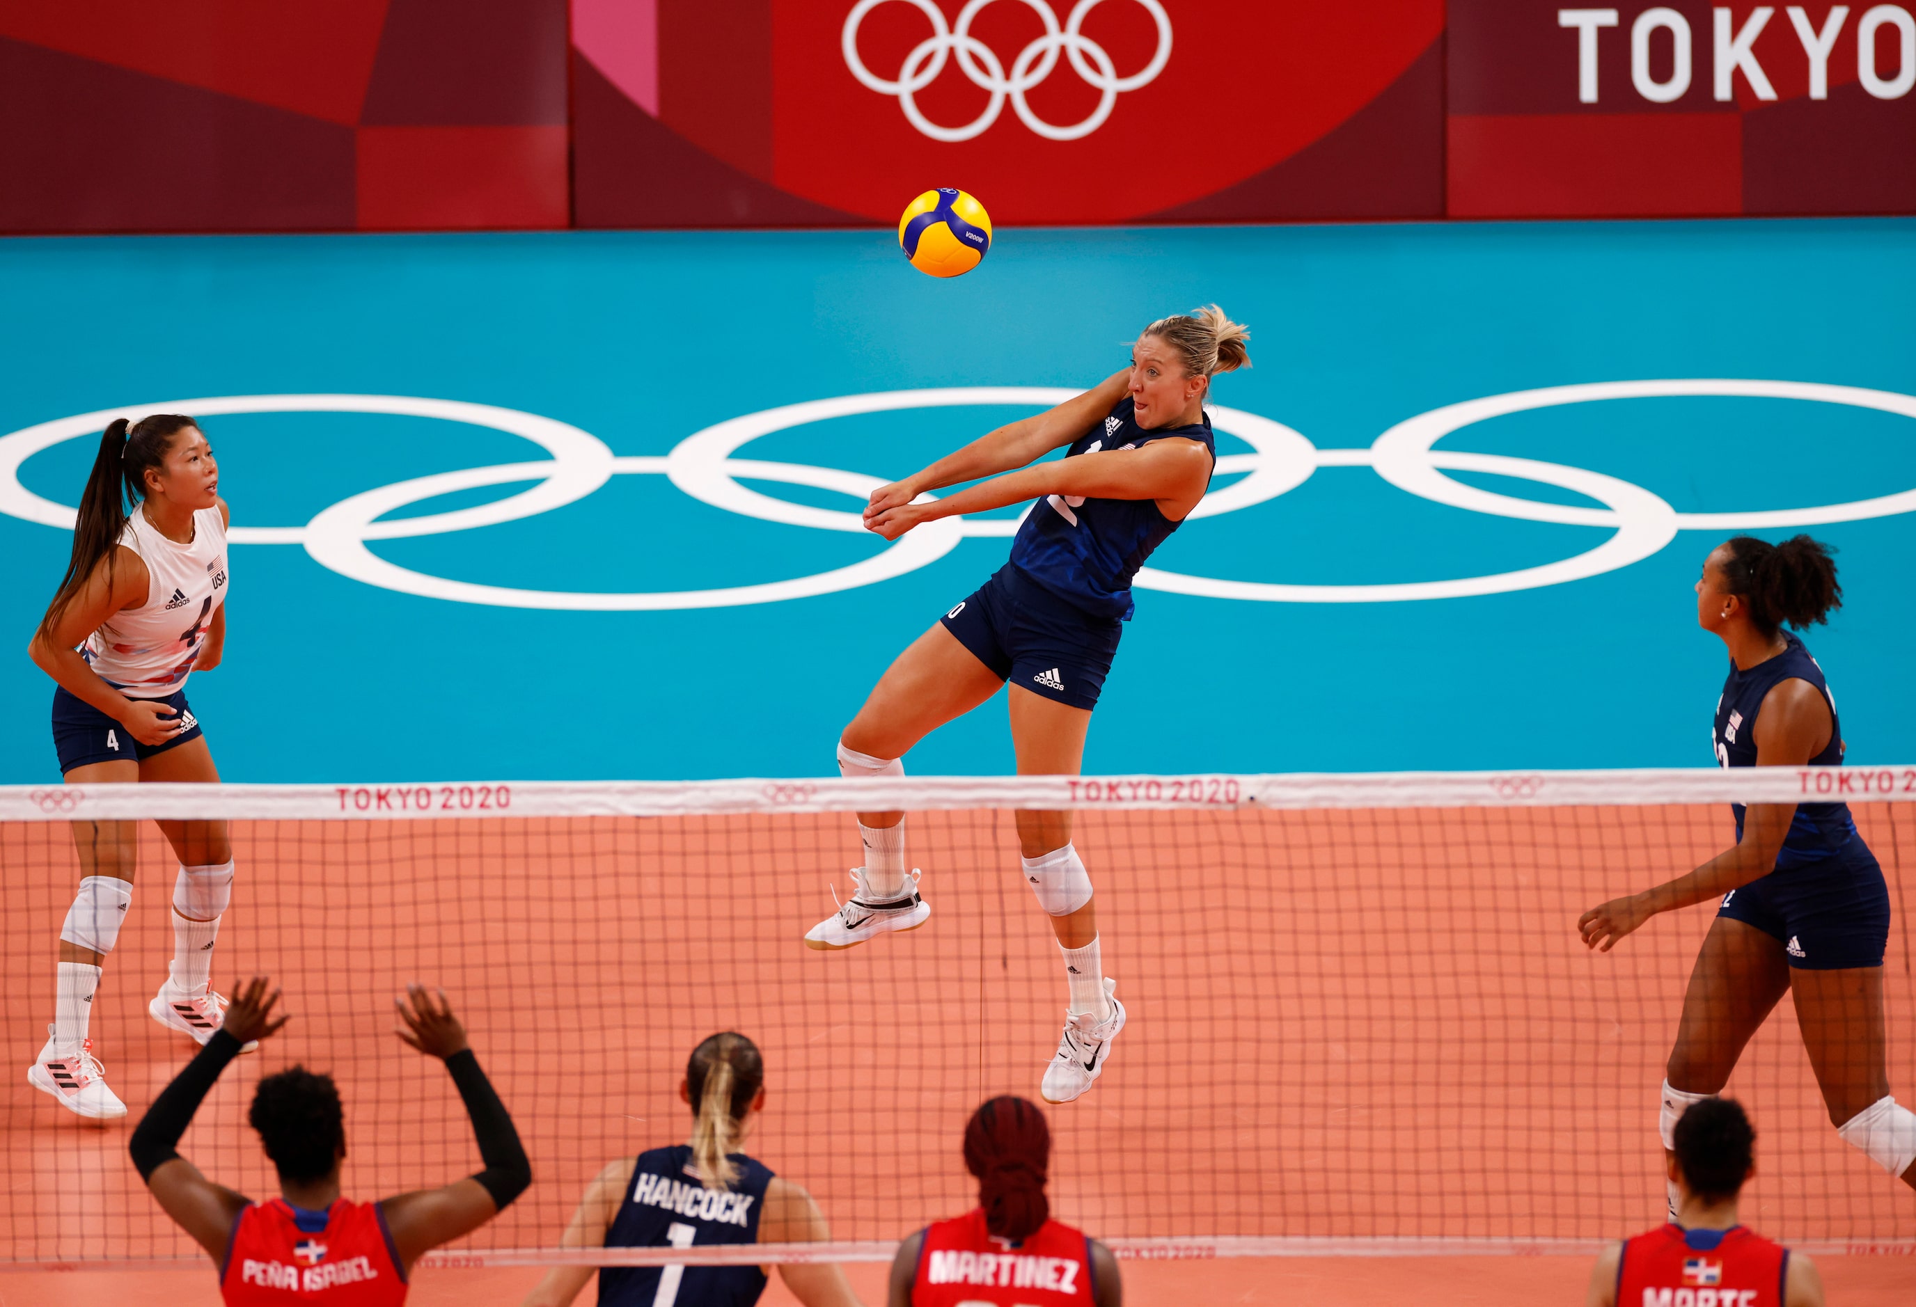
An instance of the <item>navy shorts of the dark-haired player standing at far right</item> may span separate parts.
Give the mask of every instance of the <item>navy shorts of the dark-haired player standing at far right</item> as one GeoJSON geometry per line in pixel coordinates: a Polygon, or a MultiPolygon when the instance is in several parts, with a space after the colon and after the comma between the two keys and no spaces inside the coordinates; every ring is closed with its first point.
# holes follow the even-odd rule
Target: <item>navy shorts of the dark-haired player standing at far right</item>
{"type": "Polygon", "coordinates": [[[1790,966],[1805,972],[1882,966],[1889,885],[1870,847],[1851,836],[1841,853],[1732,889],[1717,916],[1770,935],[1790,966]]]}

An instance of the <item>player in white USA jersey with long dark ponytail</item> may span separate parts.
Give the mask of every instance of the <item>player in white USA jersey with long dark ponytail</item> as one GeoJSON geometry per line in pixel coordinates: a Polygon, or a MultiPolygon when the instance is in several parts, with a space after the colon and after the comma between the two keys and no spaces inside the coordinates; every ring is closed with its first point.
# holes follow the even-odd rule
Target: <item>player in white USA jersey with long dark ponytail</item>
{"type": "MultiPolygon", "coordinates": [[[[73,558],[29,654],[54,678],[54,747],[69,786],[217,782],[186,678],[226,642],[226,500],[199,425],[182,414],[107,424],[73,529],[73,558]],[[128,512],[130,504],[130,512],[128,512]]],[[[213,941],[232,899],[226,822],[159,822],[180,859],[172,966],[148,1012],[205,1044],[226,1000],[213,941]]],[[[94,1041],[94,993],[132,905],[136,822],[77,820],[80,885],[59,929],[54,1023],[27,1081],[82,1117],[123,1117],[94,1041]]],[[[249,1044],[245,1052],[251,1052],[249,1044]]]]}

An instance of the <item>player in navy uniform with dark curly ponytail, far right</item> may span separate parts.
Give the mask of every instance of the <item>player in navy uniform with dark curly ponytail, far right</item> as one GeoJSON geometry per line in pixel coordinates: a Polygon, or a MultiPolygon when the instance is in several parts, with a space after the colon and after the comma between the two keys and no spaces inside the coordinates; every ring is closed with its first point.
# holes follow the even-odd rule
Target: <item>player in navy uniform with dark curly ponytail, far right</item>
{"type": "MultiPolygon", "coordinates": [[[[1722,767],[1843,761],[1836,698],[1784,623],[1822,623],[1843,602],[1830,550],[1736,537],[1703,562],[1698,625],[1730,652],[1713,745],[1722,767]]],[[[1717,899],[1684,995],[1659,1100],[1663,1148],[1684,1110],[1719,1094],[1744,1044],[1790,993],[1830,1123],[1916,1186],[1916,1113],[1889,1092],[1883,949],[1889,887],[1843,803],[1736,805],[1736,847],[1688,876],[1613,899],[1579,920],[1608,951],[1659,912],[1717,899]]],[[[1671,1188],[1671,1211],[1676,1190],[1671,1188]]]]}

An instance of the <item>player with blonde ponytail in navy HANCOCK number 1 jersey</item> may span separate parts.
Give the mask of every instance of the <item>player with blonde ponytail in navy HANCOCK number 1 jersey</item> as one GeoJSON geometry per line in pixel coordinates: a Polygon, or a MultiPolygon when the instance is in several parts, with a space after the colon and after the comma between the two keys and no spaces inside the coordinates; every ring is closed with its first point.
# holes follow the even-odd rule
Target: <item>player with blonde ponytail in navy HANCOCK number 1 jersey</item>
{"type": "MultiPolygon", "coordinates": [[[[692,1106],[692,1142],[619,1158],[586,1186],[561,1248],[711,1248],[818,1244],[832,1238],[801,1186],[738,1152],[764,1110],[764,1060],[743,1035],[713,1035],[692,1052],[678,1096],[692,1106]]],[[[780,1263],[805,1307],[858,1307],[845,1273],[780,1263]]],[[[523,1307],[567,1307],[592,1267],[556,1267],[523,1307]]],[[[602,1267],[600,1307],[751,1307],[764,1267],[602,1267]]]]}

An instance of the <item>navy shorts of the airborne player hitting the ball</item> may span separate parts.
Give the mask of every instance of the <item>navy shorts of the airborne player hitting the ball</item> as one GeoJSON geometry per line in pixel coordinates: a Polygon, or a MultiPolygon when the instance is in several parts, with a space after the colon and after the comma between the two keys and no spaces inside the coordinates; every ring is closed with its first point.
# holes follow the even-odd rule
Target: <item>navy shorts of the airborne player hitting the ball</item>
{"type": "Polygon", "coordinates": [[[945,613],[945,629],[998,676],[1071,707],[1098,707],[1125,623],[1092,617],[1006,563],[945,613]]]}

